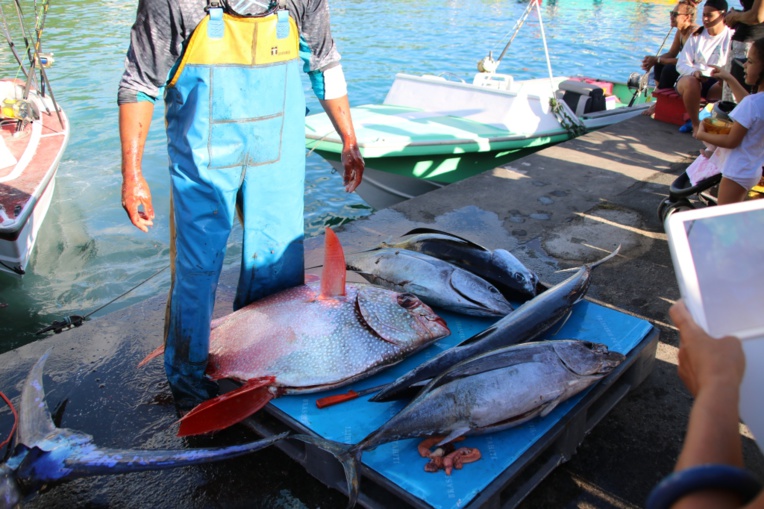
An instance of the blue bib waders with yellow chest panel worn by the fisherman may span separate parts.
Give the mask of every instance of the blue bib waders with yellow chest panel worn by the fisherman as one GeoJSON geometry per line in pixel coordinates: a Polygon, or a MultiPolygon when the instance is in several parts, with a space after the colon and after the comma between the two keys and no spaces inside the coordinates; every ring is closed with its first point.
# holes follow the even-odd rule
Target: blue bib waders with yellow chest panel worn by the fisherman
{"type": "Polygon", "coordinates": [[[204,372],[237,207],[244,239],[234,309],[304,281],[298,48],[287,11],[252,18],[210,8],[166,88],[172,287],[165,369],[181,409],[217,392],[204,372]]]}

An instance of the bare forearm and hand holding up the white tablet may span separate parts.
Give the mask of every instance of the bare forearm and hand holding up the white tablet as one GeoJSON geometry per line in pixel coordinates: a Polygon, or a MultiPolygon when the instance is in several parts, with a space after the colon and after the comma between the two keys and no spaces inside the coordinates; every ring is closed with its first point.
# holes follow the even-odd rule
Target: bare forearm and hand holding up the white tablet
{"type": "MultiPolygon", "coordinates": [[[[669,310],[679,329],[679,376],[695,396],[675,471],[706,464],[743,466],[738,402],[745,371],[737,338],[715,339],[693,320],[682,301],[669,310]]],[[[760,495],[754,503],[764,502],[760,495]]],[[[739,507],[736,495],[706,490],[683,497],[674,509],[739,507]]],[[[757,506],[758,507],[758,506],[757,506]]]]}

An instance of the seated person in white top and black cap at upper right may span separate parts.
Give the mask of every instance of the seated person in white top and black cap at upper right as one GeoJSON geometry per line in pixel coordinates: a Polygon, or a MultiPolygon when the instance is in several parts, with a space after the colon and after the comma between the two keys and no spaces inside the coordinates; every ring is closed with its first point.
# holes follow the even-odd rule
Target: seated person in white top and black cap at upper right
{"type": "Polygon", "coordinates": [[[680,78],[676,90],[690,116],[690,125],[682,126],[682,132],[695,134],[698,131],[701,99],[718,101],[721,97],[721,83],[711,77],[711,66],[727,63],[733,31],[724,24],[725,12],[726,0],[706,0],[703,26],[692,34],[679,53],[676,70],[680,78]]]}

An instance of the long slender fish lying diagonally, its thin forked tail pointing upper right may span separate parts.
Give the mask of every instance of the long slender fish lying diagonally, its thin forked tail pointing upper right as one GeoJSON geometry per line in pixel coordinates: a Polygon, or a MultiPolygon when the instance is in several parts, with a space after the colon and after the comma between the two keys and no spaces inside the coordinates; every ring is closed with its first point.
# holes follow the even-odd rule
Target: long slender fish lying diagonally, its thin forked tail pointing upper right
{"type": "Polygon", "coordinates": [[[486,330],[420,364],[387,385],[371,401],[405,397],[414,384],[443,373],[457,362],[497,348],[539,339],[569,316],[573,306],[584,298],[591,284],[592,269],[614,257],[619,250],[620,246],[602,260],[582,266],[571,277],[523,303],[486,330]]]}

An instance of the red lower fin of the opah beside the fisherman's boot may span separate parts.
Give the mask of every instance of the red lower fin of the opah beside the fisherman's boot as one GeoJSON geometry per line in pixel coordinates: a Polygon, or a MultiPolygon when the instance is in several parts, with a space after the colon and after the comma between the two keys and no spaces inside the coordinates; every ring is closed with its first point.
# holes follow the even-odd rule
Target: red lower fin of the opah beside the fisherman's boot
{"type": "Polygon", "coordinates": [[[249,380],[238,389],[198,405],[180,420],[178,436],[212,433],[243,421],[273,399],[268,388],[275,380],[272,376],[249,380]]]}

